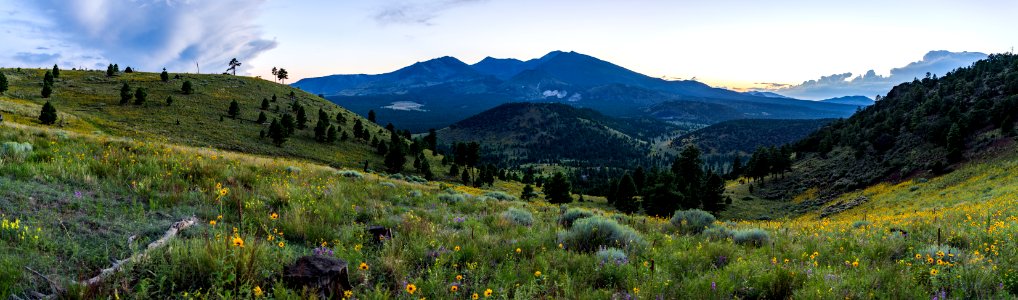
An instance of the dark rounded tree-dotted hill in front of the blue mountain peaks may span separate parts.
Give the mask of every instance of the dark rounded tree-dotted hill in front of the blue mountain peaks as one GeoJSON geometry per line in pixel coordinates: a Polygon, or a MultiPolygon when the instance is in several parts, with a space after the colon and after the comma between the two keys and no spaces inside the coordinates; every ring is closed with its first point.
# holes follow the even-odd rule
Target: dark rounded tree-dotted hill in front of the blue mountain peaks
{"type": "Polygon", "coordinates": [[[645,160],[649,140],[675,129],[558,103],[509,103],[441,129],[438,137],[446,145],[482,141],[484,160],[500,164],[620,167],[645,160]]]}

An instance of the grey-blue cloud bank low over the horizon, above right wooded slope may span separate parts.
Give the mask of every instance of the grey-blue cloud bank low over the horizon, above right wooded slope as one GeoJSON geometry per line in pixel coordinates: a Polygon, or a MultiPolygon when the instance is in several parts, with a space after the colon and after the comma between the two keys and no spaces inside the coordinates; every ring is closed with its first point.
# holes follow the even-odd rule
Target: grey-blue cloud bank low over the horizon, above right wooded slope
{"type": "Polygon", "coordinates": [[[853,77],[853,74],[849,72],[821,76],[818,79],[803,81],[796,85],[773,86],[767,89],[793,98],[810,100],[842,96],[873,97],[887,94],[891,87],[901,82],[925,77],[926,72],[943,75],[984,58],[986,55],[978,52],[930,51],[922,56],[920,61],[891,69],[891,74],[888,76],[869,70],[862,75],[853,77]]]}

